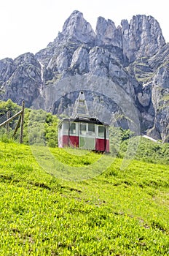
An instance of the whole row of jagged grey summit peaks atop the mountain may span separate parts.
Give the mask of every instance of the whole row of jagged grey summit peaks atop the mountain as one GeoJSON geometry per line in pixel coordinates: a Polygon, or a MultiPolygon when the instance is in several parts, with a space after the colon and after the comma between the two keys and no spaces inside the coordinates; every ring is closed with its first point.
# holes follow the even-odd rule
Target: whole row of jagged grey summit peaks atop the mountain
{"type": "MultiPolygon", "coordinates": [[[[63,31],[47,45],[53,49],[69,43],[84,43],[90,46],[106,46],[120,48],[128,63],[141,57],[152,57],[165,45],[159,23],[152,16],[135,15],[128,23],[122,20],[121,26],[115,26],[110,19],[98,18],[96,31],[83,18],[82,12],[75,10],[63,25],[63,31]]],[[[58,53],[57,53],[58,54],[58,53]]],[[[46,53],[45,53],[46,55],[46,53]]],[[[48,56],[52,55],[47,53],[48,56]]]]}

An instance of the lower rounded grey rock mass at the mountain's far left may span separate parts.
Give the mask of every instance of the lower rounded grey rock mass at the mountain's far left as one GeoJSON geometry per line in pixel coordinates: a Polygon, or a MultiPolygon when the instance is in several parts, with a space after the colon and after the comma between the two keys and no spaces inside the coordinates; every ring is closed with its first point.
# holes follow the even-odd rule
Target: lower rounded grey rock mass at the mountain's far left
{"type": "Polygon", "coordinates": [[[30,107],[40,94],[42,86],[41,65],[32,53],[25,53],[12,59],[0,61],[2,99],[12,99],[20,104],[25,100],[25,106],[30,107]],[[5,72],[3,72],[3,70],[5,72]]]}

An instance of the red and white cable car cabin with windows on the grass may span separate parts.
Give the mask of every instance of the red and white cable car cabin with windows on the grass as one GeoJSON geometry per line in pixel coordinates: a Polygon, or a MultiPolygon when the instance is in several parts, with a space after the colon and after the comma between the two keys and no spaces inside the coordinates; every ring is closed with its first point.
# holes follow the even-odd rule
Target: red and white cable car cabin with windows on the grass
{"type": "Polygon", "coordinates": [[[109,124],[96,118],[63,118],[58,126],[58,146],[109,153],[109,124]]]}

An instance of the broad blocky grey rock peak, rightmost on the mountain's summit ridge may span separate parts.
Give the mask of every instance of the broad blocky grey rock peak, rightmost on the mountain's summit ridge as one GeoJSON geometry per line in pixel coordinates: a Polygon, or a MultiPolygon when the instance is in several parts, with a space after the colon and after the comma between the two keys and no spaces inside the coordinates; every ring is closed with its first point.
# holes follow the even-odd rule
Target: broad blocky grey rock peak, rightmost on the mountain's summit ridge
{"type": "Polygon", "coordinates": [[[123,53],[130,62],[151,57],[165,45],[159,23],[152,16],[135,15],[130,24],[122,20],[123,53]]]}

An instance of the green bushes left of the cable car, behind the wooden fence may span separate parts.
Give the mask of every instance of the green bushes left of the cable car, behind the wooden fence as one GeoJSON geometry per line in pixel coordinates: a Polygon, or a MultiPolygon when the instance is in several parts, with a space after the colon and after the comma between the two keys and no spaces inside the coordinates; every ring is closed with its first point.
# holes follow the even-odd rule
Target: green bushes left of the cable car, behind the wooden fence
{"type": "MultiPolygon", "coordinates": [[[[7,102],[0,100],[0,124],[7,120],[7,111],[10,117],[21,110],[21,107],[8,99],[7,102]]],[[[31,110],[25,108],[23,143],[39,144],[47,146],[58,146],[58,118],[44,110],[31,110]]],[[[0,127],[0,140],[7,142],[10,139],[19,141],[20,129],[18,129],[14,138],[12,138],[18,118],[9,122],[9,135],[7,136],[6,127],[0,127]]]]}

